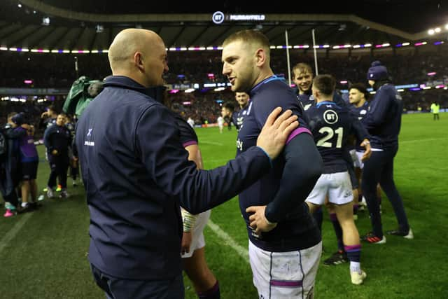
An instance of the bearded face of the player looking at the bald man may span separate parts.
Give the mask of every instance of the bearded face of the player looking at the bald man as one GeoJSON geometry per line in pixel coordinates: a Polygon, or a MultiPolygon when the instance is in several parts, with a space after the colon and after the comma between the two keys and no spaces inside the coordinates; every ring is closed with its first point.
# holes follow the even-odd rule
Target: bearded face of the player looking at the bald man
{"type": "Polygon", "coordinates": [[[227,76],[232,91],[246,92],[253,87],[255,68],[255,55],[251,46],[242,41],[228,43],[223,48],[221,60],[223,61],[223,75],[227,76]]]}

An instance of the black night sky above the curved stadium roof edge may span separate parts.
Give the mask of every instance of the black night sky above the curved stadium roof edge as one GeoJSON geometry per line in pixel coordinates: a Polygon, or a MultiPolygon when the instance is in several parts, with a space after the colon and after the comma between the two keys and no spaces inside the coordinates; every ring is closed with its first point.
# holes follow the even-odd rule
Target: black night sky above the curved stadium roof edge
{"type": "MultiPolygon", "coordinates": [[[[18,2],[15,0],[8,0],[18,2]]],[[[86,13],[335,13],[402,29],[409,33],[448,22],[448,0],[262,0],[261,1],[150,1],[150,0],[41,0],[59,8],[86,13]],[[329,3],[328,3],[329,2],[329,3]],[[293,3],[293,5],[290,5],[293,3]]],[[[1,20],[1,18],[0,18],[1,20]]]]}

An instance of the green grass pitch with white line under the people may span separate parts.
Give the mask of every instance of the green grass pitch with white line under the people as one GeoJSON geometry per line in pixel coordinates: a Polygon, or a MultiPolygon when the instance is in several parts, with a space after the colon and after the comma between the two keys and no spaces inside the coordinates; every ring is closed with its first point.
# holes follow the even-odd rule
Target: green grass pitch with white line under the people
{"type": "MultiPolygon", "coordinates": [[[[319,267],[316,298],[448,298],[448,186],[446,174],[448,113],[433,121],[430,114],[405,115],[400,150],[395,158],[398,186],[415,239],[388,237],[384,245],[363,245],[367,272],[363,286],[349,281],[348,265],[319,267]]],[[[206,168],[223,165],[235,155],[236,132],[217,128],[197,130],[206,168]]],[[[43,147],[39,147],[43,157],[43,147]]],[[[48,165],[39,165],[39,189],[48,179],[48,165]]],[[[95,286],[87,263],[89,216],[82,186],[71,187],[67,200],[45,199],[44,207],[27,214],[25,225],[9,242],[4,236],[24,221],[24,215],[0,217],[0,298],[104,298],[95,286]],[[29,218],[28,218],[29,217],[29,218]],[[3,248],[3,249],[1,249],[3,248]]],[[[383,200],[385,229],[396,221],[388,200],[383,200]]],[[[236,199],[216,207],[211,219],[237,244],[247,247],[244,221],[236,199]]],[[[357,221],[361,234],[370,229],[366,214],[357,221]]],[[[222,298],[257,298],[251,270],[210,228],[205,230],[209,267],[221,284],[222,298]]],[[[332,225],[325,215],[323,258],[335,251],[332,225]]],[[[188,279],[186,298],[196,298],[188,279]]]]}

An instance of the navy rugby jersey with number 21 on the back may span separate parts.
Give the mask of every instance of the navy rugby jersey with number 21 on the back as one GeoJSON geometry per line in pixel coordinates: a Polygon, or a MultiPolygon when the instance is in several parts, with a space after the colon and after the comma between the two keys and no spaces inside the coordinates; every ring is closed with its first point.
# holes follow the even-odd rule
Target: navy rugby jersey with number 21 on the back
{"type": "MultiPolygon", "coordinates": [[[[320,102],[307,110],[309,127],[323,160],[323,173],[332,174],[347,170],[346,143],[353,134],[352,118],[346,107],[335,102],[320,102]]],[[[360,135],[363,140],[367,135],[360,135]]]]}

